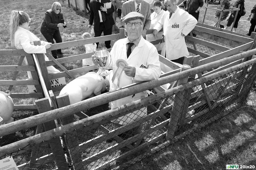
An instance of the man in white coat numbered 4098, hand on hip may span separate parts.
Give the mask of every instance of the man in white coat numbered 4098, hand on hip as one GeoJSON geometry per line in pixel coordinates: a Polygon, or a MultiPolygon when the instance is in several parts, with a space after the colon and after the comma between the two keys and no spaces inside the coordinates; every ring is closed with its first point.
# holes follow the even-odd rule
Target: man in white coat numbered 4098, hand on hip
{"type": "Polygon", "coordinates": [[[184,37],[195,28],[197,20],[180,9],[176,0],[164,0],[164,5],[167,11],[153,28],[153,35],[156,37],[163,28],[165,48],[161,54],[173,62],[183,64],[184,56],[189,55],[184,37]]]}

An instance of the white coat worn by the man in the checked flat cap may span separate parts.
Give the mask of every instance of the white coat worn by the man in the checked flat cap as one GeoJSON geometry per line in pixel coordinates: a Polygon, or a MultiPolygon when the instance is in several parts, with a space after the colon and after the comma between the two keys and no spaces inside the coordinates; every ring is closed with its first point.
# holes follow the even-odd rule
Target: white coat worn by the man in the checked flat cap
{"type": "MultiPolygon", "coordinates": [[[[119,87],[121,88],[132,83],[136,83],[138,81],[149,81],[159,78],[161,75],[161,69],[159,56],[155,46],[150,42],[144,40],[141,36],[141,40],[138,43],[138,46],[134,48],[129,58],[127,58],[125,44],[126,40],[127,38],[124,38],[115,42],[110,52],[112,62],[108,69],[112,68],[114,73],[118,69],[116,66],[116,60],[124,59],[128,63],[128,65],[133,65],[136,67],[136,72],[133,78],[126,76],[123,72],[120,78],[119,87]]],[[[119,87],[111,83],[111,79],[112,77],[110,77],[110,91],[118,89],[119,87]]],[[[133,98],[131,95],[119,100],[115,100],[110,103],[111,109],[142,99],[145,96],[147,96],[147,94],[145,94],[144,92],[140,92],[135,94],[133,98]]],[[[133,113],[127,114],[126,116],[120,117],[120,120],[117,119],[115,123],[125,124],[128,122],[133,122],[133,120],[135,120],[138,116],[142,117],[145,114],[147,114],[147,109],[144,107],[140,110],[134,111],[133,113]]]]}

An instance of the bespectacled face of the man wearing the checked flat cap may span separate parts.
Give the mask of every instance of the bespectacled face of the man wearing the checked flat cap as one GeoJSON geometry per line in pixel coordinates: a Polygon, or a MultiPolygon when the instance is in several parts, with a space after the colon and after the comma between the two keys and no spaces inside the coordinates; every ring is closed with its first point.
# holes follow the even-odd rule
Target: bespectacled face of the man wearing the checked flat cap
{"type": "Polygon", "coordinates": [[[141,19],[130,20],[125,23],[124,28],[127,31],[129,40],[133,42],[141,36],[143,22],[141,19]]]}

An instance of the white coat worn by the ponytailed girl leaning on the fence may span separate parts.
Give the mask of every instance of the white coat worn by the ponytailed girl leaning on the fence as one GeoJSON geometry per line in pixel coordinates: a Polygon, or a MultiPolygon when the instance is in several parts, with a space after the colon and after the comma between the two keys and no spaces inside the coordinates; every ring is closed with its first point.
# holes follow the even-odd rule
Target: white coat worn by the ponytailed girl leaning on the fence
{"type": "MultiPolygon", "coordinates": [[[[35,34],[30,32],[27,29],[24,29],[22,27],[18,27],[14,34],[14,43],[15,47],[18,50],[24,50],[26,53],[32,54],[32,53],[46,53],[46,49],[44,45],[34,45],[34,41],[40,41],[39,38],[36,37],[35,34]]],[[[41,41],[42,43],[48,43],[45,41],[41,41]]],[[[49,61],[48,57],[46,55],[45,60],[49,61]]],[[[25,58],[26,65],[28,65],[27,58],[25,58]]],[[[54,66],[48,66],[47,67],[48,74],[58,73],[60,72],[57,70],[54,66]]],[[[31,72],[27,71],[28,78],[32,78],[31,72]]]]}

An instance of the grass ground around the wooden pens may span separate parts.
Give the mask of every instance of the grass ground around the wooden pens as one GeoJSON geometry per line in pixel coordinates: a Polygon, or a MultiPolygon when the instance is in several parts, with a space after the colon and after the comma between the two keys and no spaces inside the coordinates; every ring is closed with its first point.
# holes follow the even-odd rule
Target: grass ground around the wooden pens
{"type": "MultiPolygon", "coordinates": [[[[24,10],[31,17],[30,31],[32,31],[41,40],[45,40],[39,31],[44,12],[50,9],[55,0],[4,0],[0,6],[0,48],[12,49],[9,40],[9,14],[11,10],[24,10]]],[[[62,4],[62,1],[60,1],[62,4]]],[[[232,0],[234,3],[234,0],[232,0]]],[[[216,5],[214,3],[213,5],[216,5]]],[[[247,14],[241,17],[237,32],[246,34],[250,27],[250,22],[246,20],[251,7],[255,4],[253,0],[245,1],[247,14]]],[[[89,16],[83,15],[79,11],[68,8],[67,4],[62,4],[62,10],[65,21],[68,23],[66,29],[62,29],[63,41],[72,41],[80,39],[83,32],[88,31],[89,16]]],[[[205,6],[205,5],[204,5],[205,6]]],[[[199,22],[202,21],[205,8],[200,10],[199,22]]],[[[217,19],[214,11],[207,11],[205,23],[214,25],[217,19]]],[[[223,21],[224,24],[226,21],[223,21]]],[[[100,43],[100,47],[104,43],[100,43]]],[[[103,48],[103,47],[102,47],[103,48]]],[[[85,53],[82,46],[63,49],[67,55],[85,53]]],[[[18,57],[1,56],[0,65],[16,65],[18,57]]],[[[66,67],[78,68],[82,62],[67,63],[66,67]]],[[[12,74],[1,72],[2,80],[9,79],[12,74]]],[[[19,79],[26,79],[26,72],[19,74],[19,79]]],[[[0,87],[5,91],[8,87],[0,87]]],[[[17,87],[14,92],[26,91],[26,87],[17,87]]],[[[20,101],[17,104],[23,104],[28,101],[20,101]]],[[[29,101],[31,102],[31,101],[29,101]]],[[[15,103],[16,104],[16,103],[15,103]]],[[[183,140],[170,145],[157,154],[152,155],[140,162],[135,163],[126,169],[145,169],[145,170],[197,170],[197,169],[226,169],[226,164],[255,165],[256,166],[256,94],[251,92],[247,104],[239,110],[217,120],[200,131],[192,133],[183,140]]],[[[37,111],[14,111],[16,120],[38,114],[37,111]]],[[[8,141],[17,141],[35,133],[35,129],[19,131],[15,134],[4,136],[0,139],[0,145],[5,145],[8,141]]]]}

